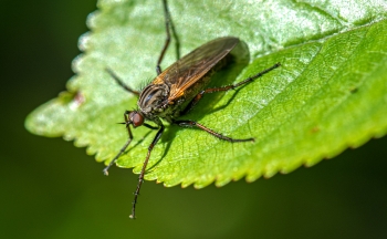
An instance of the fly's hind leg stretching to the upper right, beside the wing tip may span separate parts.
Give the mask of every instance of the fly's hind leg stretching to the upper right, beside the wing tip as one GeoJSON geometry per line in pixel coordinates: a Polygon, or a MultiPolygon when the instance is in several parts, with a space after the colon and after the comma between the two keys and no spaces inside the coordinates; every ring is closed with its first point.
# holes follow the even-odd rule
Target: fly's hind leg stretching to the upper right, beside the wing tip
{"type": "Polygon", "coordinates": [[[279,67],[281,65],[281,63],[276,63],[274,64],[273,66],[269,67],[269,69],[265,69],[263,71],[261,71],[260,73],[253,75],[253,76],[250,76],[237,84],[231,84],[231,85],[227,85],[227,86],[222,86],[222,87],[213,87],[213,89],[207,89],[207,90],[203,90],[201,91],[199,94],[197,94],[194,100],[187,105],[187,107],[181,112],[181,115],[188,113],[190,110],[192,110],[192,107],[201,100],[201,97],[203,96],[203,94],[208,94],[208,93],[213,93],[213,92],[221,92],[221,91],[229,91],[229,90],[232,90],[232,89],[236,89],[238,86],[241,86],[241,85],[244,85],[244,84],[248,84],[252,81],[254,81],[255,79],[266,74],[268,72],[279,67]]]}

